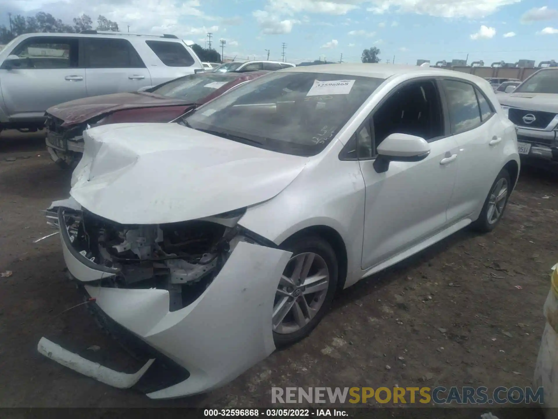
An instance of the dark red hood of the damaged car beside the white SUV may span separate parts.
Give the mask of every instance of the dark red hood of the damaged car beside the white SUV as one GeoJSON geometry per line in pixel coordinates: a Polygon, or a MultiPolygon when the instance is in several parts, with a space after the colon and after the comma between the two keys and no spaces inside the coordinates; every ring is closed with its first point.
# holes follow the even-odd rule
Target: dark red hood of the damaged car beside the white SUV
{"type": "Polygon", "coordinates": [[[114,93],[57,104],[48,108],[46,112],[63,120],[62,126],[69,126],[122,109],[178,106],[188,103],[184,99],[171,99],[147,92],[114,93]]]}

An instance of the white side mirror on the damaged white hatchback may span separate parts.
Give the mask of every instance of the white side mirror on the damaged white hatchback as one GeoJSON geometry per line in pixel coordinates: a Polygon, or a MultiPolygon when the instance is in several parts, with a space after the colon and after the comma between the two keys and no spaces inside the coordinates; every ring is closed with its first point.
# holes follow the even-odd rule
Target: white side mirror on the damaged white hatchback
{"type": "Polygon", "coordinates": [[[377,148],[374,169],[386,172],[390,161],[420,161],[430,154],[430,144],[424,138],[409,134],[391,134],[377,148]]]}

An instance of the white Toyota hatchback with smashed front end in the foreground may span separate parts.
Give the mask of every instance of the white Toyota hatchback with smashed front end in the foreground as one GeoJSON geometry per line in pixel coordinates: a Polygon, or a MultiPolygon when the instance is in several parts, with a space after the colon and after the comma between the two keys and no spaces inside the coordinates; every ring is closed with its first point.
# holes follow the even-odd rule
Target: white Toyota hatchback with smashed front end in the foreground
{"type": "MultiPolygon", "coordinates": [[[[100,323],[179,371],[152,398],[219,387],[308,335],[339,289],[465,226],[492,230],[519,174],[487,81],[386,64],[285,69],[179,123],[84,139],[49,217],[100,323]]],[[[101,374],[39,350],[118,387],[156,368],[101,374]]]]}

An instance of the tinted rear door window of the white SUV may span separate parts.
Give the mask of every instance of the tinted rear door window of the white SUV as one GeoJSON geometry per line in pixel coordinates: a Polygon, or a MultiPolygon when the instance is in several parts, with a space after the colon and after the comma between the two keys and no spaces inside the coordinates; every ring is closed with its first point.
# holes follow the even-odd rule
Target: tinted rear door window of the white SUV
{"type": "Polygon", "coordinates": [[[86,68],[145,68],[126,39],[84,38],[83,56],[86,68]]]}

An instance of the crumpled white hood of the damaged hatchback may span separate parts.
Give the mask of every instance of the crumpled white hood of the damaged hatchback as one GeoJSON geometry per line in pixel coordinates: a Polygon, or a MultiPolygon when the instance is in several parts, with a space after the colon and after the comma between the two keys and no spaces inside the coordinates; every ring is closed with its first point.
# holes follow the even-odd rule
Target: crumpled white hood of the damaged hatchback
{"type": "Polygon", "coordinates": [[[103,125],[84,140],[70,195],[122,224],[194,220],[266,201],[308,160],[177,123],[103,125]]]}

